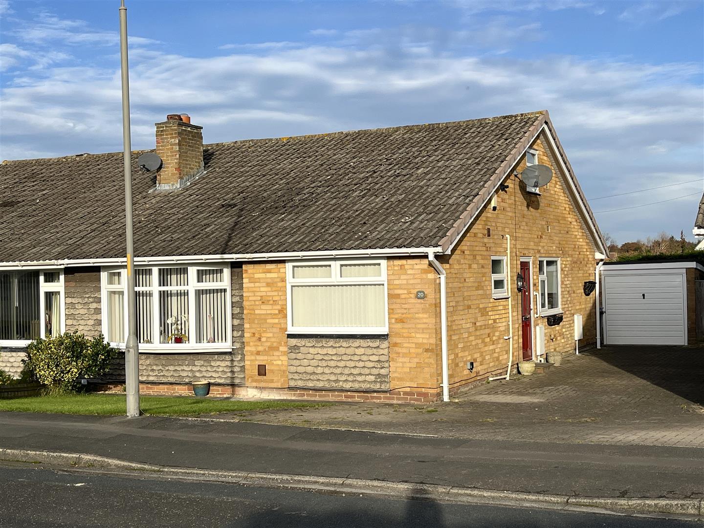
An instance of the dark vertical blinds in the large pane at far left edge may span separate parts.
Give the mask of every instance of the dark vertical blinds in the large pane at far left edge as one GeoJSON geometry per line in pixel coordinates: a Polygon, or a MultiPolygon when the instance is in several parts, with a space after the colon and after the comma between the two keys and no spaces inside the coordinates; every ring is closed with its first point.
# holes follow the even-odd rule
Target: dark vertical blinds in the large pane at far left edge
{"type": "Polygon", "coordinates": [[[40,320],[39,272],[0,272],[0,339],[36,339],[40,320]]]}

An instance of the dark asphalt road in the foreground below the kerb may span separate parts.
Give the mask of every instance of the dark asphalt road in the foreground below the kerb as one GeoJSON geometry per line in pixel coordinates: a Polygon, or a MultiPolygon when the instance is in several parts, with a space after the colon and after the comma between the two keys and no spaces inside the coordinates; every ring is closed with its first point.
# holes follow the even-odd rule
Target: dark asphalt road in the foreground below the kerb
{"type": "Polygon", "coordinates": [[[597,513],[338,496],[0,463],[0,527],[699,527],[597,513]]]}

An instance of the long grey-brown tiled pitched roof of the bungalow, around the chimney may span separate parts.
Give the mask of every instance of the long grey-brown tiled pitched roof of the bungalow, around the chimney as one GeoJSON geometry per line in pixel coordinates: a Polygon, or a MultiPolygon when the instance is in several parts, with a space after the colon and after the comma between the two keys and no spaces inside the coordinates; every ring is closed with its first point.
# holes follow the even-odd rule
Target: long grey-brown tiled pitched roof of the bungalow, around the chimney
{"type": "MultiPolygon", "coordinates": [[[[446,249],[546,124],[542,111],[206,144],[206,173],[177,191],[153,191],[133,152],[135,255],[446,249]]],[[[123,189],[122,153],[4,162],[0,263],[124,256],[123,189]]]]}

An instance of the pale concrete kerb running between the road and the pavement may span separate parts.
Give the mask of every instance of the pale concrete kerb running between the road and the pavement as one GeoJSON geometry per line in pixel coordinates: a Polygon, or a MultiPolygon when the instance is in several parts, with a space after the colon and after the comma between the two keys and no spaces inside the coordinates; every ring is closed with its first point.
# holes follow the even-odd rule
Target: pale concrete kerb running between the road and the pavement
{"type": "Polygon", "coordinates": [[[386,482],[382,480],[348,479],[342,477],[315,477],[296,474],[256,473],[222,470],[203,470],[194,467],[172,467],[144,464],[86,453],[54,453],[25,449],[0,448],[0,460],[48,465],[81,467],[89,470],[100,468],[142,471],[158,477],[225,482],[268,488],[282,487],[308,491],[332,491],[337,494],[380,495],[392,498],[413,498],[458,504],[492,504],[561,510],[597,511],[628,515],[668,514],[701,519],[704,512],[700,498],[608,498],[577,497],[566,495],[533,494],[521,491],[414,484],[412,482],[386,482]]]}

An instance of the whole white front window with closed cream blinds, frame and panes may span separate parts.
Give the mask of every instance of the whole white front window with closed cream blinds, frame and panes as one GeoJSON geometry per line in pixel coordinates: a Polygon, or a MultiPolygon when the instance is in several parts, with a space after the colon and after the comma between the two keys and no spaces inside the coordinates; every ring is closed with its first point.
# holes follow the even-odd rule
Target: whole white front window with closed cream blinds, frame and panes
{"type": "Polygon", "coordinates": [[[386,334],[386,259],[289,261],[291,334],[386,334]]]}

